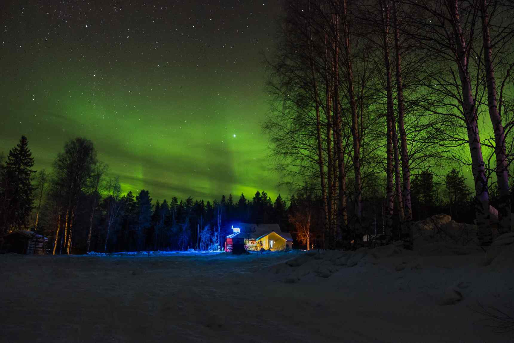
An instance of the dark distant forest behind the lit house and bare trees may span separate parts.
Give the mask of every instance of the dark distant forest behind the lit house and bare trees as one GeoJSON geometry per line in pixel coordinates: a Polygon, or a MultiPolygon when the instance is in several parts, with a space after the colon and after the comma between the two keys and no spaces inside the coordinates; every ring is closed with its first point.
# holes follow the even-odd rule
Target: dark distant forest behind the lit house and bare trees
{"type": "MultiPolygon", "coordinates": [[[[33,165],[24,136],[7,157],[0,157],[0,236],[17,229],[35,231],[49,239],[52,254],[212,250],[223,246],[237,222],[278,223],[291,232],[296,247],[324,247],[322,200],[306,188],[287,203],[280,194],[272,201],[265,191],[251,199],[241,194],[237,201],[232,194],[212,202],[173,195],[154,200],[148,190],[122,190],[119,177],[97,159],[93,142],[80,137],[65,143],[51,171],[35,171],[33,165]]],[[[428,171],[413,178],[415,220],[444,212],[472,222],[471,190],[464,177],[453,169],[443,180],[437,183],[428,171]]],[[[384,232],[385,200],[383,189],[366,196],[372,233],[384,232]]]]}

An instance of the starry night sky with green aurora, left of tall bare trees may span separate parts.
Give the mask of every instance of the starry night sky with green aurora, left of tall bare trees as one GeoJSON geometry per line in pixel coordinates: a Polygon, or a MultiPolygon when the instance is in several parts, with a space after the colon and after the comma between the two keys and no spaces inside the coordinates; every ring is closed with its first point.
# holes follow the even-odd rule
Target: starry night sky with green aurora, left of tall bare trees
{"type": "MultiPolygon", "coordinates": [[[[0,152],[91,139],[154,201],[277,196],[261,131],[278,1],[2,1],[0,152]]],[[[282,190],[283,191],[283,190],[282,190]]],[[[283,192],[282,192],[283,193],[283,192]]]]}

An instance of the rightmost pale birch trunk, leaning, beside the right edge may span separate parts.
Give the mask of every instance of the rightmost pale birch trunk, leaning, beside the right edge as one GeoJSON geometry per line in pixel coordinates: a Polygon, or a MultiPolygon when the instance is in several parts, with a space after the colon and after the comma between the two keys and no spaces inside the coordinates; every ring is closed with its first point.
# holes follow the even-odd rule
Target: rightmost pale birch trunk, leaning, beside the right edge
{"type": "Polygon", "coordinates": [[[500,233],[505,233],[509,232],[511,229],[508,166],[505,153],[505,132],[502,125],[502,118],[498,111],[496,81],[494,78],[494,68],[491,63],[492,47],[486,0],[481,0],[480,11],[482,12],[484,64],[487,79],[487,103],[489,106],[489,117],[491,118],[492,127],[494,129],[496,176],[498,180],[498,195],[500,196],[500,204],[498,205],[498,231],[500,233]]]}

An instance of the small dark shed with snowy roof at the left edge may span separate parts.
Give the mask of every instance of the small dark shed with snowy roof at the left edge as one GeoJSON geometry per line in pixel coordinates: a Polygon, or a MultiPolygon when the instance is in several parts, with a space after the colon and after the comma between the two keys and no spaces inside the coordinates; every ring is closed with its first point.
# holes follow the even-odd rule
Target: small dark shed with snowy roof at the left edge
{"type": "Polygon", "coordinates": [[[45,255],[48,238],[28,230],[17,230],[0,239],[1,252],[25,255],[45,255]]]}

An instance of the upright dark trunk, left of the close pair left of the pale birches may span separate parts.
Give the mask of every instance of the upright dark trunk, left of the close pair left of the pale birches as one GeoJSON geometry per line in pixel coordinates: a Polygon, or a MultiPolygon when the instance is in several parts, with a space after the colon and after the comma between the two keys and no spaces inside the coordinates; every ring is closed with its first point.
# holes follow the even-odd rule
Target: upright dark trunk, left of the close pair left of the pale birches
{"type": "Polygon", "coordinates": [[[382,34],[383,34],[383,53],[384,65],[386,66],[386,91],[387,91],[387,187],[386,187],[386,231],[392,234],[393,229],[393,209],[394,209],[394,192],[393,192],[393,176],[394,176],[394,151],[393,151],[393,93],[391,86],[391,65],[389,62],[389,7],[384,6],[380,0],[382,12],[382,34]]]}

